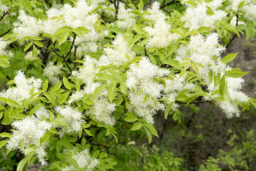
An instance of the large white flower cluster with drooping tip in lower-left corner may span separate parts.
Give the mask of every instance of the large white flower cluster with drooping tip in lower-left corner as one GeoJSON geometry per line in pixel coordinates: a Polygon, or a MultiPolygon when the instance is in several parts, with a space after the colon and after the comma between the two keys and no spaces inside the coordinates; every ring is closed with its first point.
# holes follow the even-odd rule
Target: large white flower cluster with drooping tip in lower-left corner
{"type": "Polygon", "coordinates": [[[42,165],[46,165],[45,148],[47,144],[40,144],[40,138],[50,130],[52,127],[51,123],[27,117],[23,120],[14,121],[12,127],[15,130],[12,132],[12,138],[8,141],[7,148],[9,150],[19,149],[24,153],[24,149],[30,145],[35,145],[38,147],[35,153],[39,162],[42,165]]]}

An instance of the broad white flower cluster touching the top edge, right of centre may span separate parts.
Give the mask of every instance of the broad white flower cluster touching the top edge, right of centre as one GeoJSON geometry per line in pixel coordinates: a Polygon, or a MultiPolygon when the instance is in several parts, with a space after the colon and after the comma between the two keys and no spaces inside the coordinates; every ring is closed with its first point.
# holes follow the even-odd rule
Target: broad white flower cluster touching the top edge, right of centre
{"type": "Polygon", "coordinates": [[[223,0],[213,0],[209,3],[204,1],[198,3],[196,7],[189,5],[181,20],[185,22],[185,27],[190,30],[198,29],[200,27],[214,29],[215,23],[226,16],[225,11],[218,10],[222,3],[223,0]],[[207,14],[207,10],[210,10],[214,14],[207,14]]]}

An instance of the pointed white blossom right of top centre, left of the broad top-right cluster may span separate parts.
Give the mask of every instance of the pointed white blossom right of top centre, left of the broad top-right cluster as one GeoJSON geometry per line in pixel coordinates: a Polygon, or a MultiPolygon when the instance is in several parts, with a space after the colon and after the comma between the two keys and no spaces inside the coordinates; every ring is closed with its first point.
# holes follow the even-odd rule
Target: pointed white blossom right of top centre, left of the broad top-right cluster
{"type": "Polygon", "coordinates": [[[165,20],[158,19],[154,27],[146,27],[150,38],[147,41],[148,48],[166,48],[172,42],[175,42],[180,36],[176,33],[170,33],[172,27],[165,20]]]}

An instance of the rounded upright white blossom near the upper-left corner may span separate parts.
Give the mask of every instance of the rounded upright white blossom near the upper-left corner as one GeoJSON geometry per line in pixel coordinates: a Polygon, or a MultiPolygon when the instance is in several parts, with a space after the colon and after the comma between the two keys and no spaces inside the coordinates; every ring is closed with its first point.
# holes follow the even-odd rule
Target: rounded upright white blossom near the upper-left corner
{"type": "Polygon", "coordinates": [[[37,23],[36,18],[27,15],[23,10],[19,11],[18,21],[13,26],[13,33],[19,40],[24,37],[38,36],[41,32],[41,26],[37,23]]]}

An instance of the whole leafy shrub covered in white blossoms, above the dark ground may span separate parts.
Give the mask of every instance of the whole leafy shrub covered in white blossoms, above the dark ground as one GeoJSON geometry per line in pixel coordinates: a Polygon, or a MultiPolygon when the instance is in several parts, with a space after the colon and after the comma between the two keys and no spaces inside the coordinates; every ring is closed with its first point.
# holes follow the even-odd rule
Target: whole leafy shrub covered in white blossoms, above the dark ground
{"type": "Polygon", "coordinates": [[[54,170],[112,169],[95,134],[118,143],[130,123],[151,143],[154,116],[180,121],[181,103],[210,102],[227,118],[256,104],[241,91],[247,72],[228,65],[237,54],[222,56],[235,36],[254,36],[254,1],[1,3],[0,116],[12,129],[0,147],[24,154],[17,170],[49,157],[54,170]]]}

